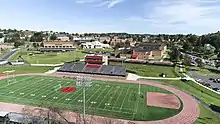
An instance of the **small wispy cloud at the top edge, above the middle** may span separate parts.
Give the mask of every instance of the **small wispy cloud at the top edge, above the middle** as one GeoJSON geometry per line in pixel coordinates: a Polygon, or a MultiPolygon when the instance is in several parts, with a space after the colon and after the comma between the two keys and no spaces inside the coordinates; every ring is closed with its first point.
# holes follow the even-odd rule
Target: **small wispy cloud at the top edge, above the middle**
{"type": "Polygon", "coordinates": [[[112,8],[125,0],[78,0],[78,4],[93,4],[94,7],[107,6],[107,8],[112,8]]]}

